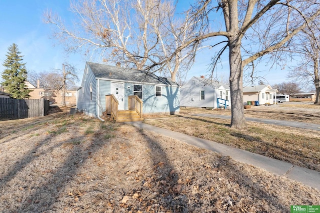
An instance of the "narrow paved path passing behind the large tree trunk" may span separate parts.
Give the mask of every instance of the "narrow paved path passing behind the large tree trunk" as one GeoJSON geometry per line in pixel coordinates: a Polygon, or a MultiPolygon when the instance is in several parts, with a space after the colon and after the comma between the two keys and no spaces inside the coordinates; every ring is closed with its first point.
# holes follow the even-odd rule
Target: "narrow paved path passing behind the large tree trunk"
{"type": "MultiPolygon", "coordinates": [[[[208,118],[231,119],[230,115],[218,115],[218,114],[192,114],[192,115],[200,116],[200,117],[208,117],[208,118]]],[[[266,119],[266,118],[250,118],[250,117],[246,117],[245,120],[260,122],[265,124],[273,124],[273,125],[279,125],[279,126],[288,126],[288,127],[296,127],[296,128],[312,129],[312,130],[320,131],[320,125],[318,124],[303,123],[298,121],[284,121],[284,120],[272,120],[272,119],[266,119]]]]}

